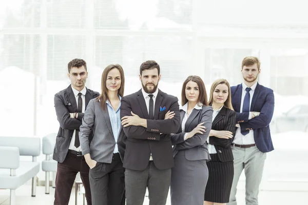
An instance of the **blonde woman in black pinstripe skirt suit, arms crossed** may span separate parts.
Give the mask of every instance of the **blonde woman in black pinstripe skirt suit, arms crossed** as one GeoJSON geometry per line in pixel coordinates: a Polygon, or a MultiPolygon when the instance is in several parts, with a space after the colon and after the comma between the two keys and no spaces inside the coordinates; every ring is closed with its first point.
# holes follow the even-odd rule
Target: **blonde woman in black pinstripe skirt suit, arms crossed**
{"type": "Polygon", "coordinates": [[[230,145],[236,131],[236,112],[231,104],[230,85],[227,80],[218,79],[213,83],[209,105],[213,107],[214,112],[207,140],[211,161],[207,162],[208,181],[204,205],[226,204],[229,201],[234,175],[230,145]]]}

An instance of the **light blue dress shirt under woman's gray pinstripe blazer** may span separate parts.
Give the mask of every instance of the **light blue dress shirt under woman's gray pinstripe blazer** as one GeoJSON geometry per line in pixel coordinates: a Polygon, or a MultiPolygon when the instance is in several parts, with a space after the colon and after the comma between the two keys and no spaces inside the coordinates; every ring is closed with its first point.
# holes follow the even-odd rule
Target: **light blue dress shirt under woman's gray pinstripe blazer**
{"type": "MultiPolygon", "coordinates": [[[[117,143],[118,141],[120,130],[121,130],[121,117],[120,117],[121,96],[120,95],[119,95],[119,98],[120,98],[120,104],[119,104],[117,111],[113,110],[112,106],[110,105],[109,100],[106,101],[115,143],[117,143]]],[[[118,153],[118,152],[119,152],[118,145],[116,144],[114,147],[113,153],[118,153]]]]}

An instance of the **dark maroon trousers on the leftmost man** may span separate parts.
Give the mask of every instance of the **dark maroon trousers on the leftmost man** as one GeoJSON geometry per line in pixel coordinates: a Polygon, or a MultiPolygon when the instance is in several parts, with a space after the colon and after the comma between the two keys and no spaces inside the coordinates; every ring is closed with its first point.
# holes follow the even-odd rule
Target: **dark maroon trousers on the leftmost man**
{"type": "Polygon", "coordinates": [[[89,166],[83,156],[68,153],[65,160],[62,163],[58,162],[57,164],[54,205],[68,204],[76,174],[78,172],[80,172],[81,180],[85,188],[87,204],[92,204],[89,183],[89,166]]]}

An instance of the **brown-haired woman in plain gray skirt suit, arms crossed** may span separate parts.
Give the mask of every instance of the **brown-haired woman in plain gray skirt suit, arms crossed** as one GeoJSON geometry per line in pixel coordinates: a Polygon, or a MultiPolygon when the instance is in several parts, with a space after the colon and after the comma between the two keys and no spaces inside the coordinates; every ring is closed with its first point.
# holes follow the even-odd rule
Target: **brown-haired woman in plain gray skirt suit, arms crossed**
{"type": "Polygon", "coordinates": [[[188,76],[182,87],[181,126],[177,134],[171,134],[175,161],[171,170],[172,205],[203,204],[208,178],[206,161],[210,159],[205,144],[209,133],[206,130],[211,127],[212,114],[202,79],[188,76]]]}

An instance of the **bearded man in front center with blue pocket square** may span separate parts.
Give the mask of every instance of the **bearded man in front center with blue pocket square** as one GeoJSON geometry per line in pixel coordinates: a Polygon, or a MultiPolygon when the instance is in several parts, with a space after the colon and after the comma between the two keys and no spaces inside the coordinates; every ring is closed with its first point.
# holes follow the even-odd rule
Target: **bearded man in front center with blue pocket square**
{"type": "Polygon", "coordinates": [[[146,188],[150,205],[166,204],[174,166],[170,133],[180,127],[178,98],[157,89],[160,67],[154,60],[140,66],[142,89],[121,99],[127,136],[123,167],[127,205],[142,205],[146,188]],[[165,119],[167,111],[174,117],[165,119]]]}

